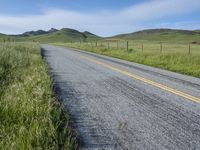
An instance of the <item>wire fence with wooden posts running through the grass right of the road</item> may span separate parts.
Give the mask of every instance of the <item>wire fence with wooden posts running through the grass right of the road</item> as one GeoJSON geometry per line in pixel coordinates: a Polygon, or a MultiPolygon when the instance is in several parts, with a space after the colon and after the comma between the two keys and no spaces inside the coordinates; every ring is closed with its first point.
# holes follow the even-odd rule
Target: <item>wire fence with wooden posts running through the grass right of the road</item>
{"type": "Polygon", "coordinates": [[[153,41],[91,41],[91,42],[71,42],[69,46],[82,46],[93,48],[104,48],[109,50],[124,50],[127,52],[146,53],[184,53],[199,54],[199,43],[171,43],[153,41]]]}

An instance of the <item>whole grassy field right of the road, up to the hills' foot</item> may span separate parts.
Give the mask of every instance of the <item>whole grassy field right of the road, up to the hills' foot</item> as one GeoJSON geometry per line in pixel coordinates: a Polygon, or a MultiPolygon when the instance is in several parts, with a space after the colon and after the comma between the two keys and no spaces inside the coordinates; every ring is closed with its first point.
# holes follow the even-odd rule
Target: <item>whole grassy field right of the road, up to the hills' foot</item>
{"type": "Polygon", "coordinates": [[[112,56],[140,64],[150,65],[200,77],[200,45],[163,43],[159,42],[129,41],[104,41],[96,43],[54,43],[55,45],[78,48],[102,55],[112,56]],[[142,46],[143,43],[143,46],[142,46]],[[118,47],[118,48],[117,48],[118,47]],[[143,49],[142,49],[143,47],[143,49]],[[189,54],[190,53],[190,54],[189,54]]]}

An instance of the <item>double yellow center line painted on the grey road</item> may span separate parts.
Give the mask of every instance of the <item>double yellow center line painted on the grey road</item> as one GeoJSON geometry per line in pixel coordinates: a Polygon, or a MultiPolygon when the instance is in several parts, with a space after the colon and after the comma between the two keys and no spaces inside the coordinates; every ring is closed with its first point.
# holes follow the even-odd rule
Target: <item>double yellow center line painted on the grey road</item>
{"type": "Polygon", "coordinates": [[[83,56],[83,55],[81,55],[81,54],[79,54],[79,55],[80,55],[80,57],[82,57],[82,58],[84,58],[84,59],[86,59],[86,60],[89,60],[89,61],[94,62],[94,63],[96,63],[96,64],[102,65],[102,66],[104,66],[104,67],[106,67],[106,68],[109,68],[109,69],[111,69],[111,70],[114,70],[114,71],[116,71],[116,72],[122,73],[122,74],[127,75],[127,76],[129,76],[129,77],[132,77],[132,78],[134,78],[134,79],[143,81],[144,83],[148,83],[148,84],[153,85],[153,86],[155,86],[155,87],[157,87],[157,88],[160,88],[160,89],[162,89],[162,90],[165,90],[165,91],[171,92],[171,93],[173,93],[173,94],[176,94],[176,95],[178,95],[178,96],[181,96],[181,97],[184,97],[184,98],[186,98],[186,99],[189,99],[189,100],[191,100],[191,101],[193,101],[193,102],[200,103],[200,98],[198,98],[198,97],[195,97],[195,96],[192,96],[192,95],[190,95],[190,94],[181,92],[181,91],[179,91],[179,90],[176,90],[176,89],[171,88],[171,87],[168,87],[168,86],[166,86],[166,85],[157,83],[157,82],[155,82],[155,81],[152,81],[152,80],[143,78],[143,77],[138,76],[138,75],[136,75],[136,74],[134,74],[134,73],[131,73],[131,72],[129,72],[129,71],[126,71],[126,70],[123,70],[123,69],[114,67],[114,66],[112,66],[112,65],[110,65],[110,64],[107,64],[107,63],[98,61],[98,60],[96,60],[96,59],[93,59],[93,58],[90,58],[90,57],[87,57],[87,56],[83,56]]]}

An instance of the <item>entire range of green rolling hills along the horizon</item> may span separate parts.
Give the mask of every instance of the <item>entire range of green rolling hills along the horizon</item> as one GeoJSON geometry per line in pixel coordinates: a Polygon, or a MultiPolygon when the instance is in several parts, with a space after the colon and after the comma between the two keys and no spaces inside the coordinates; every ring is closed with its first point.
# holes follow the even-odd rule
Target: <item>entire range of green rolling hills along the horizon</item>
{"type": "Polygon", "coordinates": [[[113,37],[102,38],[88,31],[63,28],[61,30],[50,29],[48,31],[29,31],[20,35],[0,34],[0,41],[38,41],[41,43],[54,42],[79,42],[96,40],[143,40],[162,42],[195,42],[200,43],[200,30],[175,30],[175,29],[148,29],[138,32],[120,34],[113,37]]]}

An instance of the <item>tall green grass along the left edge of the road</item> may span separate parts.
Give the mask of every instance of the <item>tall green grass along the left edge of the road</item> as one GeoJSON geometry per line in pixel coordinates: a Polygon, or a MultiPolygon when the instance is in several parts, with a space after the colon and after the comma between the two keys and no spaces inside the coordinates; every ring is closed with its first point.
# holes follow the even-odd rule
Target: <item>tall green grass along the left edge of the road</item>
{"type": "Polygon", "coordinates": [[[0,149],[74,149],[37,44],[0,44],[0,85],[0,149]]]}

